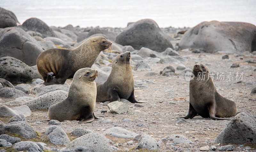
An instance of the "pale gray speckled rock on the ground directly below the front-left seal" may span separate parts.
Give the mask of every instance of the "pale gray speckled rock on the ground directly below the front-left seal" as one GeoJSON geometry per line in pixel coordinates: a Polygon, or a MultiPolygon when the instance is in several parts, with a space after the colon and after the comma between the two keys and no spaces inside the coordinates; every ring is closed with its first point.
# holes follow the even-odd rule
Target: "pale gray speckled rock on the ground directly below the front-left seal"
{"type": "Polygon", "coordinates": [[[54,144],[63,144],[65,146],[68,146],[68,144],[70,143],[68,135],[59,126],[52,125],[50,127],[47,127],[45,130],[45,134],[48,135],[47,137],[54,144]]]}

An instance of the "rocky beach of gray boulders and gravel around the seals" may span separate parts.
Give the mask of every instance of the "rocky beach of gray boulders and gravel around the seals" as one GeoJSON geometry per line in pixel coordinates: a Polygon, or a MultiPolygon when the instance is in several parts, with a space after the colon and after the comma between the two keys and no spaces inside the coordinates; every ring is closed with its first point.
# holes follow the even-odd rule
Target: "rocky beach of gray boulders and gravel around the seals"
{"type": "MultiPolygon", "coordinates": [[[[195,27],[158,27],[152,19],[125,28],[20,23],[0,8],[0,151],[256,151],[256,27],[243,22],[202,22],[195,27]],[[113,59],[131,52],[134,95],[96,103],[99,119],[49,120],[48,109],[68,96],[63,85],[43,84],[36,59],[47,49],[75,49],[89,38],[112,42],[92,69],[104,83],[113,59]],[[232,100],[232,120],[185,116],[189,80],[196,63],[206,65],[217,92],[232,100]]],[[[228,110],[228,108],[227,108],[228,110]]]]}

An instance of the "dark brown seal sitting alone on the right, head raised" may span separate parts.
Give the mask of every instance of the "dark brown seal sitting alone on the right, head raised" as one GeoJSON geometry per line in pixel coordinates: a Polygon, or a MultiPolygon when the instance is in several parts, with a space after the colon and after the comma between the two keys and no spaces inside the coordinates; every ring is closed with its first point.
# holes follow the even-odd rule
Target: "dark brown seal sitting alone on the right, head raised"
{"type": "Polygon", "coordinates": [[[221,96],[206,65],[197,63],[192,73],[194,78],[189,82],[189,109],[187,116],[175,117],[192,119],[196,115],[216,120],[231,120],[225,117],[236,115],[236,103],[221,96]]]}

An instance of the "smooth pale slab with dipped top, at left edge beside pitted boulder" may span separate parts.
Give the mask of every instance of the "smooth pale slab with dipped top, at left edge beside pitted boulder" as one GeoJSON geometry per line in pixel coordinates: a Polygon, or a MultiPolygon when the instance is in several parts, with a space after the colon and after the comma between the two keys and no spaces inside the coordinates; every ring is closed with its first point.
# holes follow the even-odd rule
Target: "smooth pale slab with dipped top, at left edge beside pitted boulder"
{"type": "Polygon", "coordinates": [[[8,116],[16,116],[19,114],[23,114],[25,117],[28,117],[32,113],[29,107],[26,105],[22,105],[20,107],[13,107],[13,108],[9,108],[7,106],[0,107],[0,116],[8,117],[8,116]]]}

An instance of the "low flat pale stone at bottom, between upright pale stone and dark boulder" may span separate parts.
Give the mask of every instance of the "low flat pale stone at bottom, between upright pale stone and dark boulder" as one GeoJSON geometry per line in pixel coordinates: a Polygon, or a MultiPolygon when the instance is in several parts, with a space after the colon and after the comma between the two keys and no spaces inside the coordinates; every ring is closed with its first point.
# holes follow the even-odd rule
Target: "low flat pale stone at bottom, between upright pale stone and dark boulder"
{"type": "Polygon", "coordinates": [[[180,134],[173,134],[170,136],[166,136],[164,138],[162,138],[160,141],[158,141],[158,144],[162,145],[172,145],[173,143],[176,144],[193,144],[192,141],[188,140],[188,138],[186,138],[183,135],[180,134]]]}

